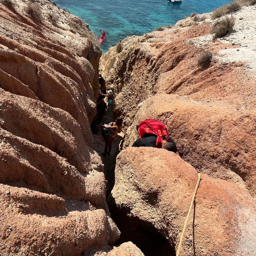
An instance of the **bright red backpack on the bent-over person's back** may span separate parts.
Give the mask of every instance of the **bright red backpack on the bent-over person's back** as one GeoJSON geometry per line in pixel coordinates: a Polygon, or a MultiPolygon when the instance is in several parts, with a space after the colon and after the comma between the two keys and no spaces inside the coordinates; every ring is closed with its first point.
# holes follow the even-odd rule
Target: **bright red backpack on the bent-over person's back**
{"type": "Polygon", "coordinates": [[[170,142],[169,134],[165,125],[154,119],[147,119],[141,121],[139,124],[138,132],[140,134],[140,139],[143,137],[144,134],[155,134],[157,136],[157,148],[161,148],[163,138],[166,138],[166,140],[170,142]]]}

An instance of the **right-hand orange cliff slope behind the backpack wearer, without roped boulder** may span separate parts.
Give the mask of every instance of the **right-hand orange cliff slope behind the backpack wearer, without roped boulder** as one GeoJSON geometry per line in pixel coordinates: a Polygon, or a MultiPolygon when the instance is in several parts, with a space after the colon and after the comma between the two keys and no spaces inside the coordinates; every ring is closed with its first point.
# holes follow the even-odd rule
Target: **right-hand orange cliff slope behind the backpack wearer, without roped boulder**
{"type": "Polygon", "coordinates": [[[255,6],[236,12],[235,30],[222,40],[213,41],[210,33],[222,18],[205,15],[204,22],[188,18],[122,40],[104,54],[100,69],[118,93],[116,108],[128,128],[124,146],[138,137],[141,120],[157,118],[167,124],[184,160],[255,196],[255,6]],[[252,25],[250,33],[244,22],[252,25]],[[204,50],[213,59],[201,67],[204,50]]]}

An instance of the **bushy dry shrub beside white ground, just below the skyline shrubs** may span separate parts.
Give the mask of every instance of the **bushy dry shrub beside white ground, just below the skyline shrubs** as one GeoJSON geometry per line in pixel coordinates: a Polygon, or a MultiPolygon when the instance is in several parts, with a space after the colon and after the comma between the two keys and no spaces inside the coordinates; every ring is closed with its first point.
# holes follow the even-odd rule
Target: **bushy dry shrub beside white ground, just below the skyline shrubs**
{"type": "Polygon", "coordinates": [[[217,22],[212,28],[212,34],[214,34],[213,40],[226,36],[229,32],[232,31],[232,29],[234,28],[234,25],[235,25],[234,16],[230,16],[230,17],[225,16],[225,18],[217,22]]]}

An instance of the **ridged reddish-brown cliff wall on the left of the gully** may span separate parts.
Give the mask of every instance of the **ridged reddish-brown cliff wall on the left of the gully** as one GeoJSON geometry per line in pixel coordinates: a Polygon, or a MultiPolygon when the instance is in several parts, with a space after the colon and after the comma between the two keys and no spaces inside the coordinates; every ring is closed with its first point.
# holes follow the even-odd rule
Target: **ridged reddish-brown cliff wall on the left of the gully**
{"type": "Polygon", "coordinates": [[[90,131],[94,35],[47,0],[2,0],[0,34],[0,255],[114,244],[120,232],[90,131]]]}

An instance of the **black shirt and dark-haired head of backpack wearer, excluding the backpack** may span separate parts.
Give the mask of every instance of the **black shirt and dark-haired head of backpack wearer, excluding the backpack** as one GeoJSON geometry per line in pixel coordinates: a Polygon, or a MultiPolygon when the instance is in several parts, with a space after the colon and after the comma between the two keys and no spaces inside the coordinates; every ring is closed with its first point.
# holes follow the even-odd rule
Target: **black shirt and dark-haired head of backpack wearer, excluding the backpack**
{"type": "MultiPolygon", "coordinates": [[[[176,143],[171,137],[169,138],[170,138],[170,142],[168,142],[165,138],[163,138],[161,148],[164,148],[168,151],[172,151],[176,153],[178,156],[180,156],[176,143]]],[[[144,136],[141,139],[138,138],[138,140],[136,140],[132,146],[156,148],[156,140],[157,140],[157,136],[155,134],[144,134],[144,136]]]]}

